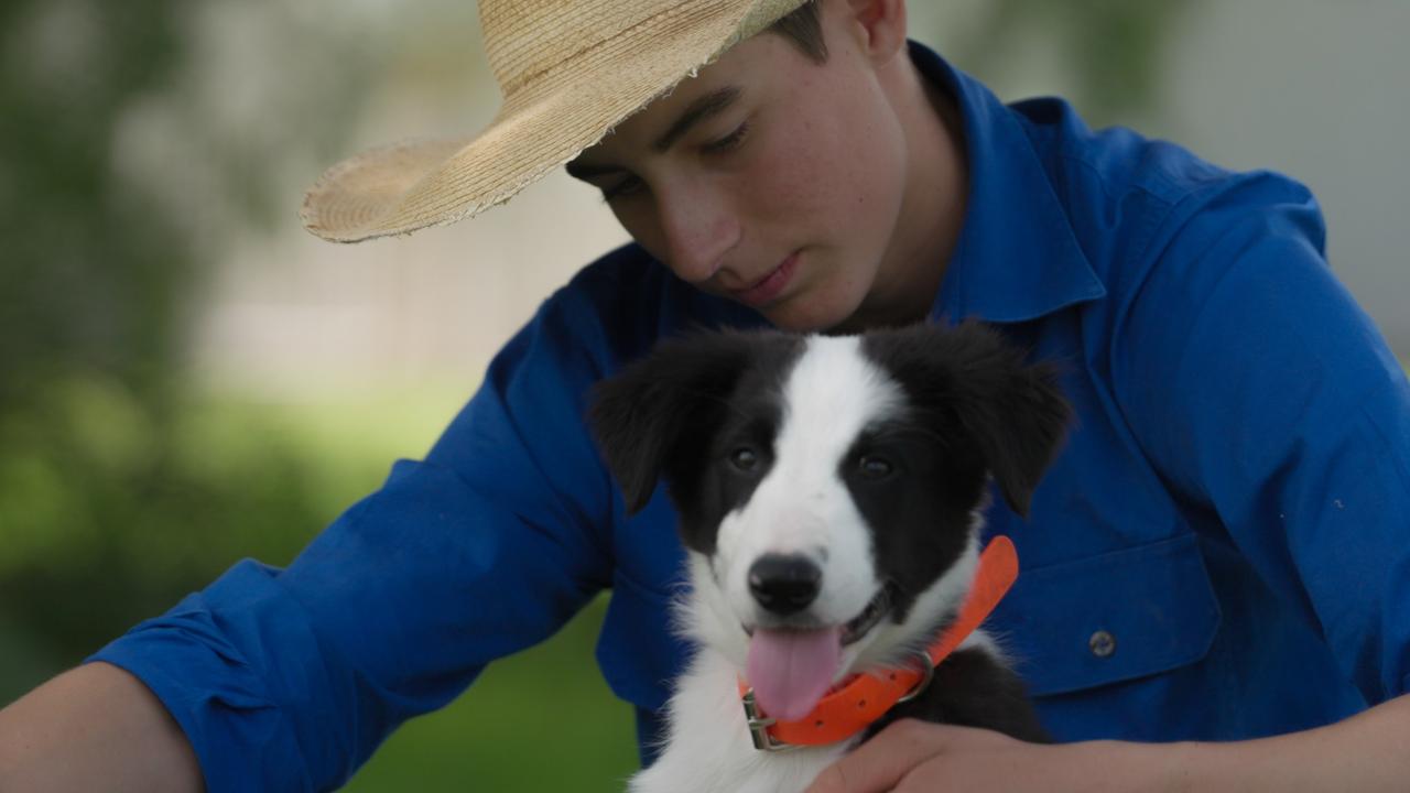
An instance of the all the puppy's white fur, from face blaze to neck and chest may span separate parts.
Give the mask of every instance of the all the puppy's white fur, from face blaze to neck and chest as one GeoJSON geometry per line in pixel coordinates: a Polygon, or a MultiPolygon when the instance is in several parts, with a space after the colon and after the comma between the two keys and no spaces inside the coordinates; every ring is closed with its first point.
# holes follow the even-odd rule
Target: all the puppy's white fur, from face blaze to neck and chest
{"type": "MultiPolygon", "coordinates": [[[[902,394],[863,356],[856,337],[811,337],[784,385],[784,405],[774,467],[749,502],[722,521],[713,556],[689,553],[692,590],[680,604],[678,618],[680,629],[699,650],[668,704],[666,749],[651,768],[632,777],[633,793],[801,792],[857,742],[785,752],[753,748],[737,690],[749,653],[743,625],[760,617],[747,571],[766,553],[808,555],[823,569],[814,615],[842,624],[866,608],[881,583],[876,580],[870,532],[838,468],[857,433],[901,409],[902,394]]],[[[969,547],[921,593],[904,624],[883,621],[845,648],[839,679],[902,663],[928,643],[928,631],[969,591],[980,526],[976,512],[969,547]]],[[[993,652],[993,642],[981,634],[963,646],[993,652]]]]}

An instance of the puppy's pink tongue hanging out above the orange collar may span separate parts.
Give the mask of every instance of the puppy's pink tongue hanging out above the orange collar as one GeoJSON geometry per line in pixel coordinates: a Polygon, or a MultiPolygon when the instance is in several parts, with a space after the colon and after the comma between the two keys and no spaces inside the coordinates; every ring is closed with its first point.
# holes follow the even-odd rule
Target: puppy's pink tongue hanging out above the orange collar
{"type": "Polygon", "coordinates": [[[842,665],[842,628],[767,631],[749,641],[749,684],[766,715],[797,721],[828,693],[842,665]]]}

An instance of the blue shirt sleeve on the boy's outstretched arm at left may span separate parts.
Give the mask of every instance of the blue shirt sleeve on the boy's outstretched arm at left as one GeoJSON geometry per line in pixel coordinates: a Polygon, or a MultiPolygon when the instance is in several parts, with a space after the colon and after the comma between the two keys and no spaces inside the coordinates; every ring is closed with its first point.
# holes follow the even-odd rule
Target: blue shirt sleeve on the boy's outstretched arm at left
{"type": "Polygon", "coordinates": [[[399,461],[288,569],[240,562],[89,660],[152,689],[209,790],[340,786],[611,581],[611,487],[581,419],[605,357],[596,312],[560,292],[426,460],[399,461]]]}

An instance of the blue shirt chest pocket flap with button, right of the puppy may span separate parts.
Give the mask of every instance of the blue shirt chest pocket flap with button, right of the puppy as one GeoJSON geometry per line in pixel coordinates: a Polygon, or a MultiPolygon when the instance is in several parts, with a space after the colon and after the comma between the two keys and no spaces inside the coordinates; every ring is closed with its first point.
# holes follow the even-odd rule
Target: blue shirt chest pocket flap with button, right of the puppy
{"type": "Polygon", "coordinates": [[[1220,607],[1194,535],[1024,570],[991,626],[1035,697],[1203,659],[1220,607]]]}

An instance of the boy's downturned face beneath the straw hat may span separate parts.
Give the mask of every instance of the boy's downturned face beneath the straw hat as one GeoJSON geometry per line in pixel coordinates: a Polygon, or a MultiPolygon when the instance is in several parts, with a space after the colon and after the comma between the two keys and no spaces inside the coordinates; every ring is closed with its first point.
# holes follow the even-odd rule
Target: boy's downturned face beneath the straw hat
{"type": "Polygon", "coordinates": [[[568,165],[681,279],[790,330],[876,319],[890,288],[905,140],[842,8],[825,63],[756,35],[568,165]]]}

